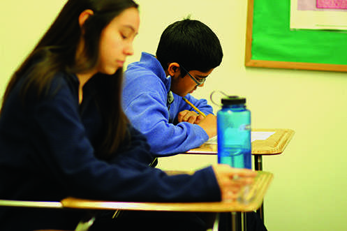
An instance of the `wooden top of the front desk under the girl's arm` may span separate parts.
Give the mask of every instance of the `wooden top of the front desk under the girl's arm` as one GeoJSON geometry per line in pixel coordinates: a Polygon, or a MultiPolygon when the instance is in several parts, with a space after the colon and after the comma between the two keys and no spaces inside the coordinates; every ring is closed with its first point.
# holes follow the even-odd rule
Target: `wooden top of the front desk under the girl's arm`
{"type": "Polygon", "coordinates": [[[140,211],[254,211],[263,202],[267,188],[272,181],[270,172],[258,172],[253,190],[246,196],[246,202],[110,202],[102,200],[86,200],[66,198],[61,200],[64,208],[69,209],[101,209],[101,210],[140,210],[140,211]]]}

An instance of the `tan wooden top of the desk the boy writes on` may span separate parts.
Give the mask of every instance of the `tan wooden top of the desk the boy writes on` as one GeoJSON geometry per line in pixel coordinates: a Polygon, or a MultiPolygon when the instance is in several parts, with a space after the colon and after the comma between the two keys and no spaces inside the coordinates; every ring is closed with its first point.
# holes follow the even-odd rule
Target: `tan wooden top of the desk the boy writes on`
{"type": "MultiPolygon", "coordinates": [[[[281,154],[294,135],[294,131],[285,128],[256,128],[252,132],[274,132],[267,140],[254,140],[252,142],[253,155],[281,154]]],[[[187,151],[187,154],[217,154],[217,144],[202,144],[196,149],[187,151]]]]}

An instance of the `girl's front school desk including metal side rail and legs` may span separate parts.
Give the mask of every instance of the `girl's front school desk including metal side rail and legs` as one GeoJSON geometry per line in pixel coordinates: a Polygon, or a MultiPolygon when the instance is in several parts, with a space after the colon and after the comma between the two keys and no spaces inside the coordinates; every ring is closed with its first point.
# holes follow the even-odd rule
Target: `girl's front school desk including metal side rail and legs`
{"type": "MultiPolygon", "coordinates": [[[[174,171],[168,174],[191,174],[191,172],[174,171]]],[[[244,186],[237,200],[230,202],[115,202],[101,200],[87,200],[80,198],[65,198],[61,202],[0,200],[0,207],[17,207],[32,209],[80,209],[86,214],[93,214],[90,219],[80,221],[76,230],[88,230],[95,220],[97,211],[181,211],[181,212],[212,212],[216,213],[213,230],[218,230],[219,213],[230,213],[230,230],[246,230],[245,212],[254,211],[260,207],[264,195],[273,179],[270,172],[258,171],[249,186],[244,186]]],[[[40,219],[40,218],[38,218],[40,219]]],[[[20,218],[18,218],[20,221],[20,218]]],[[[43,230],[41,230],[43,231],[43,230]]],[[[48,231],[48,230],[46,230],[48,231]]]]}

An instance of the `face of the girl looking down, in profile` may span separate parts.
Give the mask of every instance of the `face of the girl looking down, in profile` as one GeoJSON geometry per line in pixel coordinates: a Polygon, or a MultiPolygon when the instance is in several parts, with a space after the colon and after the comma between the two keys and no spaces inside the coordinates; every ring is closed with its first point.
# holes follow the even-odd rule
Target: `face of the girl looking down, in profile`
{"type": "Polygon", "coordinates": [[[128,8],[103,29],[97,72],[112,75],[123,67],[126,57],[133,54],[133,40],[139,26],[138,9],[128,8]]]}

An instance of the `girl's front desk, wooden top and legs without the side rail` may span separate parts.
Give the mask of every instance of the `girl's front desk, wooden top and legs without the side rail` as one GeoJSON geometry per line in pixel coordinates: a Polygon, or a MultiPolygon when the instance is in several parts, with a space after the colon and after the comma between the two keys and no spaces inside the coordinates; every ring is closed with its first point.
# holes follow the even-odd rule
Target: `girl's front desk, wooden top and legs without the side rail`
{"type": "MultiPolygon", "coordinates": [[[[175,172],[182,173],[182,171],[175,172]]],[[[171,173],[172,174],[172,173],[171,173]]],[[[235,201],[230,202],[114,202],[102,200],[86,200],[80,198],[66,198],[61,204],[67,209],[82,209],[86,211],[98,210],[137,210],[137,211],[182,211],[182,212],[213,212],[216,213],[214,229],[218,230],[219,213],[230,212],[230,230],[246,230],[244,212],[254,211],[263,202],[267,188],[272,181],[273,174],[258,171],[258,175],[249,187],[244,187],[235,201]]],[[[116,212],[117,213],[117,212],[116,212]]],[[[163,228],[165,230],[165,228],[163,228]]]]}

